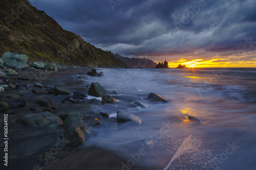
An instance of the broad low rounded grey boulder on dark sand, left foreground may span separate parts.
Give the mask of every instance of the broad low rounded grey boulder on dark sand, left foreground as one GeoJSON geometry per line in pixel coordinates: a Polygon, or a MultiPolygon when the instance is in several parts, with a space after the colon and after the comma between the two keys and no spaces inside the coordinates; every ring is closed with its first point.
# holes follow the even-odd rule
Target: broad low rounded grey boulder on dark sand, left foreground
{"type": "Polygon", "coordinates": [[[16,123],[23,124],[28,127],[49,126],[49,128],[57,128],[62,125],[62,120],[59,116],[50,113],[42,112],[38,114],[26,114],[18,117],[16,123]]]}

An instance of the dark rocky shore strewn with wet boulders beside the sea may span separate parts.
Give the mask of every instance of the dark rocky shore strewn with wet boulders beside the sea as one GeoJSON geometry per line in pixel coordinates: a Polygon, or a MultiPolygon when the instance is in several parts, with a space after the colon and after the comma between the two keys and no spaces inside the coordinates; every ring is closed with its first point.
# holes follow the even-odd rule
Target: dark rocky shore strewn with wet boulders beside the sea
{"type": "MultiPolygon", "coordinates": [[[[8,167],[64,169],[64,166],[72,166],[70,169],[76,169],[82,167],[79,157],[88,158],[83,158],[87,169],[97,169],[100,165],[100,169],[122,167],[120,160],[123,158],[113,152],[84,148],[82,144],[96,135],[94,128],[123,123],[133,126],[141,124],[139,116],[122,110],[117,111],[116,117],[109,117],[109,113],[102,108],[117,102],[111,95],[116,92],[106,91],[97,82],[87,84],[81,81],[89,76],[100,79],[104,76],[102,71],[79,66],[29,63],[25,56],[6,55],[15,56],[13,62],[2,57],[5,66],[0,65],[0,119],[4,122],[4,114],[8,115],[8,167]],[[88,95],[95,98],[88,99],[88,95]],[[101,101],[96,98],[101,98],[101,101]],[[104,158],[95,161],[92,158],[96,155],[103,155],[104,158]],[[71,157],[73,161],[69,160],[71,157]],[[90,160],[97,164],[88,163],[90,160]],[[75,161],[78,162],[73,165],[75,161]]],[[[155,93],[150,93],[148,100],[167,102],[155,93]]],[[[134,106],[144,107],[139,102],[134,106]]],[[[143,167],[134,166],[133,169],[143,167]]]]}

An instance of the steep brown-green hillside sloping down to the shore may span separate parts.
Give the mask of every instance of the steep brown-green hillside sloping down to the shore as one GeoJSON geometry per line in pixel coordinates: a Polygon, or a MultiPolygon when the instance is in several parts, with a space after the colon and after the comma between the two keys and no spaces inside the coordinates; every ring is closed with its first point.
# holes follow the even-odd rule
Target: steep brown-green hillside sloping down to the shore
{"type": "Polygon", "coordinates": [[[27,0],[0,1],[0,39],[0,56],[5,52],[17,52],[32,61],[127,67],[111,52],[63,30],[53,18],[31,6],[27,0]]]}

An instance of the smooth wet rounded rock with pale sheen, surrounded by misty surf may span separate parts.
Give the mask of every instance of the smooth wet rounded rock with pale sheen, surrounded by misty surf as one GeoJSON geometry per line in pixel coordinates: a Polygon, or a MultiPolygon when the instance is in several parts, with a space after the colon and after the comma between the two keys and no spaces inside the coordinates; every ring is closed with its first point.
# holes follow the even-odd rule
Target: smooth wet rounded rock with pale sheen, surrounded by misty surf
{"type": "Polygon", "coordinates": [[[117,123],[131,122],[136,125],[141,124],[140,117],[124,111],[117,111],[117,123]]]}

